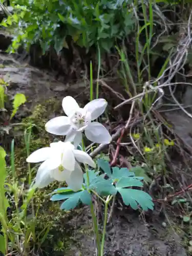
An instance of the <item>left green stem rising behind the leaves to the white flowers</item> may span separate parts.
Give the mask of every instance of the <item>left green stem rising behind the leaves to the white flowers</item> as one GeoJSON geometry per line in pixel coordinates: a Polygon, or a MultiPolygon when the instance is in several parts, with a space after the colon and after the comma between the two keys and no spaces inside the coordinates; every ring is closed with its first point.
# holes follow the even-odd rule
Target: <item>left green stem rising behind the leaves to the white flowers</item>
{"type": "MultiPolygon", "coordinates": [[[[84,152],[86,152],[86,147],[84,146],[83,139],[82,139],[82,149],[83,149],[84,152]]],[[[89,172],[88,172],[87,166],[86,166],[86,175],[87,175],[87,187],[89,187],[90,182],[89,182],[89,172]]],[[[98,229],[98,225],[97,225],[97,218],[95,216],[94,205],[93,205],[92,200],[91,200],[90,208],[91,208],[91,215],[92,215],[92,220],[93,220],[94,233],[95,233],[95,236],[96,236],[97,254],[98,254],[98,256],[101,256],[101,254],[100,254],[99,229],[98,229]]]]}

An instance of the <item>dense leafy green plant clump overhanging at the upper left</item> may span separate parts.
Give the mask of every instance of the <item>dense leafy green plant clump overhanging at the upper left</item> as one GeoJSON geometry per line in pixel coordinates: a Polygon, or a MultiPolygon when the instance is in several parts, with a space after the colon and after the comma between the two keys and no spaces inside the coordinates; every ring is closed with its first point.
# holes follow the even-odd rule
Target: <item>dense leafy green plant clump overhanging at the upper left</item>
{"type": "Polygon", "coordinates": [[[130,34],[135,23],[131,1],[29,1],[13,0],[14,14],[2,23],[14,27],[12,51],[21,44],[29,49],[40,44],[45,54],[50,46],[58,53],[68,48],[72,37],[80,47],[98,45],[109,51],[117,39],[130,34]]]}

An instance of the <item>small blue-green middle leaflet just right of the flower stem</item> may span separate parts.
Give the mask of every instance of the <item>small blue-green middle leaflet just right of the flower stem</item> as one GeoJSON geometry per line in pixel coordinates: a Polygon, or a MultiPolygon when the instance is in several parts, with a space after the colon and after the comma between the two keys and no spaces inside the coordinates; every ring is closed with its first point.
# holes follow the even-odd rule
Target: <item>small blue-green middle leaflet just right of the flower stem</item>
{"type": "Polygon", "coordinates": [[[117,189],[112,184],[112,180],[102,180],[89,187],[94,189],[99,195],[116,195],[117,189]]]}

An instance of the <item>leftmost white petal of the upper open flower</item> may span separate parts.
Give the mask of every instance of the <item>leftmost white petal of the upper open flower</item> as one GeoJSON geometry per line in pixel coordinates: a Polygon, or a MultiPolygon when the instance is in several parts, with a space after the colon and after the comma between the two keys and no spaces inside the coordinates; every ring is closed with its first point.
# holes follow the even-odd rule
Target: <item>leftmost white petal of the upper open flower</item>
{"type": "Polygon", "coordinates": [[[58,116],[49,120],[46,125],[46,131],[55,135],[66,135],[71,127],[67,116],[58,116]]]}

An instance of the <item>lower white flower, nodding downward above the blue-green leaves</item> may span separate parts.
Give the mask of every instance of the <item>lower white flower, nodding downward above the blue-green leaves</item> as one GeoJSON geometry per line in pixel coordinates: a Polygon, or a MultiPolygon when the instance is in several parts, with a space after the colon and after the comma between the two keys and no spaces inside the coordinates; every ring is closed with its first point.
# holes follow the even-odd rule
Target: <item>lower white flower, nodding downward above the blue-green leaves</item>
{"type": "Polygon", "coordinates": [[[66,181],[74,191],[82,187],[83,172],[78,162],[95,167],[93,159],[80,150],[75,150],[71,142],[53,142],[50,147],[43,147],[33,152],[29,163],[43,162],[37,170],[35,186],[43,188],[52,181],[66,181]]]}

